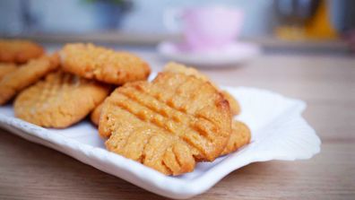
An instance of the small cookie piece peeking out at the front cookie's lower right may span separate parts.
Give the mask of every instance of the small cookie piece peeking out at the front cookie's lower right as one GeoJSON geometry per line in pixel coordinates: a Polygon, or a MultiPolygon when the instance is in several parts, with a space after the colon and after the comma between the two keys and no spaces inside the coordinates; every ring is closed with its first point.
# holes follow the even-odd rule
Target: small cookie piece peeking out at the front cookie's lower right
{"type": "Polygon", "coordinates": [[[240,147],[250,143],[250,138],[250,129],[247,125],[240,121],[233,121],[229,141],[223,152],[221,152],[221,155],[237,151],[240,147]]]}

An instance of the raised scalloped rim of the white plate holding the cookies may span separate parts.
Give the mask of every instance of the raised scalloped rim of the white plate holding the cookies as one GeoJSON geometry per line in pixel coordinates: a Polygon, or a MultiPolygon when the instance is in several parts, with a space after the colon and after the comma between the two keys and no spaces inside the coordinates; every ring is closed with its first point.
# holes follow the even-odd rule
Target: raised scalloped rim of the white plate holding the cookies
{"type": "MultiPolygon", "coordinates": [[[[224,86],[222,88],[226,88],[229,90],[236,90],[235,87],[224,86]]],[[[281,94],[275,93],[273,91],[267,91],[256,88],[248,88],[248,87],[238,87],[238,89],[246,89],[246,90],[255,90],[255,91],[264,91],[269,92],[273,95],[277,95],[284,100],[292,100],[295,104],[299,104],[299,110],[297,111],[294,117],[299,117],[301,120],[305,122],[304,126],[308,129],[308,131],[312,132],[311,134],[316,135],[315,130],[307,124],[307,121],[301,117],[302,111],[306,108],[306,104],[302,100],[290,99],[282,96],[281,94]],[[303,106],[302,106],[303,105],[303,106]]],[[[188,198],[191,196],[196,196],[202,194],[212,186],[214,186],[221,178],[227,176],[231,171],[237,170],[240,167],[246,166],[249,163],[255,161],[271,161],[271,160],[281,160],[281,161],[294,161],[299,159],[309,159],[314,156],[316,153],[320,152],[320,144],[321,141],[318,138],[318,142],[316,143],[317,148],[314,149],[314,152],[309,152],[307,158],[288,158],[286,157],[261,157],[257,158],[257,156],[248,158],[242,163],[234,163],[233,161],[238,160],[238,156],[243,156],[241,152],[248,151],[246,148],[239,150],[238,152],[234,152],[228,158],[224,159],[217,165],[213,166],[211,169],[203,172],[203,175],[191,179],[186,183],[185,180],[166,177],[160,172],[149,169],[143,166],[140,163],[135,161],[131,161],[126,159],[120,155],[117,155],[113,152],[108,152],[106,150],[100,149],[99,147],[94,147],[86,143],[80,143],[72,138],[65,137],[63,135],[53,135],[46,128],[42,128],[40,126],[32,125],[28,122],[22,121],[16,117],[8,117],[3,114],[0,114],[0,126],[9,130],[10,132],[22,132],[22,133],[14,133],[15,135],[19,135],[22,138],[29,140],[34,143],[40,143],[42,145],[48,146],[49,148],[55,149],[59,152],[63,152],[76,160],[82,161],[83,163],[89,164],[94,168],[105,171],[109,174],[117,176],[118,178],[126,179],[137,185],[139,187],[143,187],[153,193],[159,194],[161,196],[168,196],[173,198],[188,198]],[[15,128],[15,130],[13,130],[15,128]],[[27,135],[27,136],[25,136],[27,135]],[[29,138],[28,136],[30,135],[29,138]],[[63,148],[69,148],[74,152],[67,152],[63,150],[63,148]],[[75,151],[80,151],[82,154],[75,154],[75,151]],[[239,154],[236,156],[235,154],[239,154]],[[100,161],[106,162],[108,166],[102,166],[101,163],[90,163],[87,159],[93,159],[92,161],[100,161]],[[109,166],[115,166],[118,170],[121,170],[121,174],[117,174],[112,170],[108,170],[109,166]],[[107,168],[108,167],[108,168],[107,168]],[[126,171],[129,173],[123,173],[122,171],[126,171]],[[216,173],[218,176],[215,176],[216,173]],[[134,175],[132,177],[132,175],[134,175]],[[173,186],[172,186],[172,185],[173,186]]],[[[249,149],[252,151],[253,149],[249,149]]],[[[224,158],[224,157],[223,157],[224,158]]]]}

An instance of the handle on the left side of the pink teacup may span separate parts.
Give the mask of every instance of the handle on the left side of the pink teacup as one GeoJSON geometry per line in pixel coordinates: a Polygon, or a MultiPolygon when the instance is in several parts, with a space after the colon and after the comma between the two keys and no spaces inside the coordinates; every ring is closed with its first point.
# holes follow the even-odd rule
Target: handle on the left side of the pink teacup
{"type": "Polygon", "coordinates": [[[164,26],[170,32],[181,31],[181,18],[183,16],[183,9],[181,8],[169,8],[163,13],[164,26]]]}

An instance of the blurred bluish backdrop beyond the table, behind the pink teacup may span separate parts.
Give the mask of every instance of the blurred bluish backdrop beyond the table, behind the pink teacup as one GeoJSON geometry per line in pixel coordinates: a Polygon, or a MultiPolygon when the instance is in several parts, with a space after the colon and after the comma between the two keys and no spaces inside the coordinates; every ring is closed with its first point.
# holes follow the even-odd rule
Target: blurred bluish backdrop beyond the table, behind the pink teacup
{"type": "Polygon", "coordinates": [[[242,10],[238,39],[257,41],[265,48],[293,41],[306,41],[303,44],[312,48],[312,41],[323,51],[349,51],[354,40],[352,0],[2,0],[0,34],[43,41],[155,45],[182,37],[181,31],[169,30],[164,14],[211,4],[242,10]]]}

